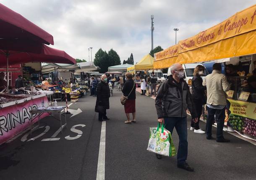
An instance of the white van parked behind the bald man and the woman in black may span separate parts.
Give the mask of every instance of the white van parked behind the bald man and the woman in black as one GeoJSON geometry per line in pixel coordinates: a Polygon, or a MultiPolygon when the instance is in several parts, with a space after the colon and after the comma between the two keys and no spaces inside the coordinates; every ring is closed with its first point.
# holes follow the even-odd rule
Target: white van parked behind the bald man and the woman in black
{"type": "MultiPolygon", "coordinates": [[[[198,65],[201,65],[201,66],[204,66],[204,64],[202,63],[190,63],[190,64],[183,64],[182,67],[184,69],[184,80],[188,83],[188,85],[191,85],[191,82],[188,82],[189,79],[191,79],[192,81],[192,78],[193,78],[193,72],[194,72],[194,69],[196,68],[196,66],[198,65]]],[[[205,76],[207,76],[209,73],[207,71],[207,69],[205,68],[204,70],[204,75],[201,76],[202,79],[204,80],[205,76]]],[[[170,68],[168,68],[168,73],[167,73],[168,76],[171,75],[171,70],[170,68]]]]}

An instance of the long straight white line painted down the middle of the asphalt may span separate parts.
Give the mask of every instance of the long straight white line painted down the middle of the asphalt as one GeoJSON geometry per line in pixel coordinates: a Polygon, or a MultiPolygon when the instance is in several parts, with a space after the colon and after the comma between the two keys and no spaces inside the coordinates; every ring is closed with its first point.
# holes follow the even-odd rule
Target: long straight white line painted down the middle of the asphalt
{"type": "Polygon", "coordinates": [[[106,122],[102,121],[96,180],[105,180],[105,144],[106,144],[106,122]]]}

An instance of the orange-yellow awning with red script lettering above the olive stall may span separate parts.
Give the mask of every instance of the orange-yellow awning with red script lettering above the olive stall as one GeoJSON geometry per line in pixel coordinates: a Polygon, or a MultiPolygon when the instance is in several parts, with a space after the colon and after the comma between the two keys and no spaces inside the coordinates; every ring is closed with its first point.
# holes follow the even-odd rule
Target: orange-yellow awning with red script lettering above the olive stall
{"type": "Polygon", "coordinates": [[[167,68],[173,63],[195,63],[254,53],[256,53],[256,5],[191,38],[179,41],[177,58],[172,56],[154,61],[154,68],[167,68]]]}

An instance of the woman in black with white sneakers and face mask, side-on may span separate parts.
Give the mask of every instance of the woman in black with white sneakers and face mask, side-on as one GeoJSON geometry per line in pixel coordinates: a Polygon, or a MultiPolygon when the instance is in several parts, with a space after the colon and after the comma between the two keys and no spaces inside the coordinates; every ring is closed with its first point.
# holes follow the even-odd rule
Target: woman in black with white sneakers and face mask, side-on
{"type": "MultiPolygon", "coordinates": [[[[196,105],[196,112],[198,114],[198,119],[200,119],[203,109],[203,104],[205,104],[204,100],[204,91],[206,90],[206,86],[203,86],[203,79],[201,76],[204,76],[204,66],[198,65],[194,69],[193,78],[192,78],[192,99],[194,104],[196,105]]],[[[204,134],[205,132],[199,128],[199,120],[198,122],[193,122],[191,119],[191,131],[196,133],[204,134]]]]}

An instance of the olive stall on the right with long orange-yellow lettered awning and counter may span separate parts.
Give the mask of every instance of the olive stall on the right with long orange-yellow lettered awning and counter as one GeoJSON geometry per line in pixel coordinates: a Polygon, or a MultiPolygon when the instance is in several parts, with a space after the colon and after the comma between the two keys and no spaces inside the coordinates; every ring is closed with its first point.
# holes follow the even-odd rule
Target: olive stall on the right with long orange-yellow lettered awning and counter
{"type": "Polygon", "coordinates": [[[227,64],[236,66],[238,75],[229,81],[233,89],[227,92],[230,114],[226,112],[225,124],[244,137],[254,140],[256,94],[253,84],[255,85],[256,78],[252,72],[256,68],[255,12],[256,5],[253,5],[212,28],[179,41],[178,45],[156,53],[154,59],[154,68],[168,68],[174,63],[199,63],[220,59],[225,59],[226,68],[227,64]],[[229,61],[226,58],[230,58],[229,61]]]}

